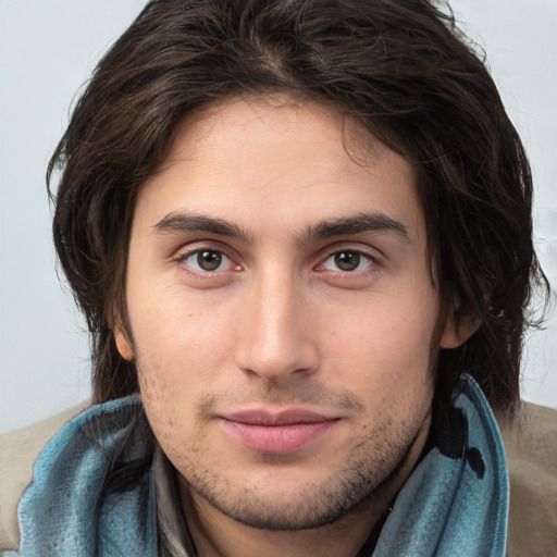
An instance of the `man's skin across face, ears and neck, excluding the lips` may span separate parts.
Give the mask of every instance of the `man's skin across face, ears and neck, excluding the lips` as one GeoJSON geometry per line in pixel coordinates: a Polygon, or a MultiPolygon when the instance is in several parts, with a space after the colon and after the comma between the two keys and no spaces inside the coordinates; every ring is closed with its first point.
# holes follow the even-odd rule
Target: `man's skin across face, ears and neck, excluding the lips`
{"type": "Polygon", "coordinates": [[[355,555],[424,446],[438,346],[463,342],[410,164],[319,104],[215,104],[143,187],[128,257],[116,344],[199,554],[355,555]],[[286,454],[223,418],[292,408],[329,425],[286,454]]]}

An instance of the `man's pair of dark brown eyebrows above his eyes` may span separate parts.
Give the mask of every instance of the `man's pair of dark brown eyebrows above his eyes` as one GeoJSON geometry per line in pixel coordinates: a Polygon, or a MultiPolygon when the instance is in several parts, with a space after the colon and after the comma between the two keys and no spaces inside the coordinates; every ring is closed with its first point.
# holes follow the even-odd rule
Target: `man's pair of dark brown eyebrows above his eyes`
{"type": "MultiPolygon", "coordinates": [[[[253,234],[223,219],[189,213],[170,213],[153,225],[157,234],[201,232],[252,242],[253,234]]],[[[318,222],[297,235],[299,244],[309,244],[334,236],[349,236],[366,232],[394,233],[411,244],[408,227],[400,221],[384,213],[357,213],[318,222]]]]}

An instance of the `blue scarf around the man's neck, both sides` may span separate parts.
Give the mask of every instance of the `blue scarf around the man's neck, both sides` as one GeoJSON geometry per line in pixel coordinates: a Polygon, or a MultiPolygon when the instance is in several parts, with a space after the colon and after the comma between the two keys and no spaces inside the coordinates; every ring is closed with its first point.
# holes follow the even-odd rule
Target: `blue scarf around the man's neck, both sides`
{"type": "MultiPolygon", "coordinates": [[[[504,557],[505,453],[480,387],[454,408],[398,494],[373,557],[504,557]]],[[[158,555],[154,443],[137,396],[97,405],[48,443],[18,507],[23,557],[158,555]]]]}

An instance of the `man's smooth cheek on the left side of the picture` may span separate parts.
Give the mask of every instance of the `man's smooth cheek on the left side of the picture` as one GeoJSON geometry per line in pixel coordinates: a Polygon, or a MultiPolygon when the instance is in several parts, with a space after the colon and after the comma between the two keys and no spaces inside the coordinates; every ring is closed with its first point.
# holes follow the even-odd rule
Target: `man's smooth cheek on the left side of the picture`
{"type": "MultiPolygon", "coordinates": [[[[139,388],[161,445],[191,437],[199,401],[232,358],[228,312],[171,288],[128,294],[139,388]]],[[[180,443],[178,443],[180,445],[180,443]]]]}

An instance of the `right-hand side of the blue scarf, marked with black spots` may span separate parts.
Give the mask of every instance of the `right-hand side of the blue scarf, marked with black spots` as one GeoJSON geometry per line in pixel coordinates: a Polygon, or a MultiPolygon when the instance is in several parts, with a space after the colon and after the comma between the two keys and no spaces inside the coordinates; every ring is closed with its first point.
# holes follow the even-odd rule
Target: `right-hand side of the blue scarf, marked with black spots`
{"type": "Polygon", "coordinates": [[[443,414],[435,446],[398,494],[373,556],[505,555],[509,490],[495,418],[468,375],[460,379],[453,405],[443,414]]]}

